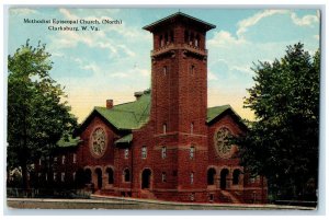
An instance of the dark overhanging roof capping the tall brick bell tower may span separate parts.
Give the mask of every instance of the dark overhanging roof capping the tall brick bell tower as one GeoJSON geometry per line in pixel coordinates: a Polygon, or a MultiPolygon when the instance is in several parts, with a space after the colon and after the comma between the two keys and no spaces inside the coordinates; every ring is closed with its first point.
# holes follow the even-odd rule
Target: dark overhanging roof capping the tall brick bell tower
{"type": "Polygon", "coordinates": [[[170,23],[173,23],[173,22],[177,22],[177,21],[182,21],[182,22],[188,23],[188,24],[201,26],[205,31],[209,31],[209,30],[216,27],[216,25],[214,25],[214,24],[204,22],[200,19],[190,16],[189,14],[185,14],[185,13],[182,13],[182,12],[179,11],[174,14],[166,16],[166,18],[159,20],[159,21],[156,21],[156,22],[154,22],[149,25],[146,25],[143,28],[146,30],[146,31],[149,31],[149,32],[154,32],[156,28],[158,28],[160,26],[163,26],[166,24],[170,24],[170,23]]]}

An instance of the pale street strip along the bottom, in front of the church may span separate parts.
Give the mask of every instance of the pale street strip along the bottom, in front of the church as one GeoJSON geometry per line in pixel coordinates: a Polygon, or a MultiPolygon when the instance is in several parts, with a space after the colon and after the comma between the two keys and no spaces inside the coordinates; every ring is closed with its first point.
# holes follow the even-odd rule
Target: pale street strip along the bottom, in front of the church
{"type": "Polygon", "coordinates": [[[91,199],[8,198],[14,209],[152,209],[152,210],[316,210],[309,207],[257,204],[200,204],[91,195],[91,199]]]}

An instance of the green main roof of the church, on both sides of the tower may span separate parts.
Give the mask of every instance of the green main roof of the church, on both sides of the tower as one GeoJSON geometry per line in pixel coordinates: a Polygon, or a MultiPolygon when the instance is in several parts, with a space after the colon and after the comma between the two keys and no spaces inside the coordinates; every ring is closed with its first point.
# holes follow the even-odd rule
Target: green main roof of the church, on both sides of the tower
{"type": "MultiPolygon", "coordinates": [[[[206,123],[209,124],[215,120],[219,115],[227,111],[231,111],[237,115],[230,105],[222,105],[207,108],[206,123]]],[[[150,115],[150,91],[145,91],[143,95],[129,103],[124,103],[115,105],[112,108],[106,107],[94,107],[92,113],[87,117],[87,119],[81,124],[86,126],[89,118],[93,114],[99,114],[106,123],[110,123],[113,127],[118,130],[132,130],[143,127],[149,120],[150,115]]],[[[239,118],[239,116],[237,115],[239,118]]]]}

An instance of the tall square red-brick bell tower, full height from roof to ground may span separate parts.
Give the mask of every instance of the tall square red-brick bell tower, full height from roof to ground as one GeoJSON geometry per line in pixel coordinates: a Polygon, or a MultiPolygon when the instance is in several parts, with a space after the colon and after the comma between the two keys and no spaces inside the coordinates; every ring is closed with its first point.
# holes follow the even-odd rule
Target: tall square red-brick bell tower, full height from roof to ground
{"type": "Polygon", "coordinates": [[[178,200],[190,201],[205,196],[195,195],[195,188],[207,187],[205,39],[212,28],[215,25],[182,12],[144,27],[154,36],[150,55],[154,170],[167,180],[155,180],[158,197],[167,189],[177,192],[170,199],[177,196],[178,200]],[[164,158],[159,158],[160,151],[166,152],[164,158]]]}

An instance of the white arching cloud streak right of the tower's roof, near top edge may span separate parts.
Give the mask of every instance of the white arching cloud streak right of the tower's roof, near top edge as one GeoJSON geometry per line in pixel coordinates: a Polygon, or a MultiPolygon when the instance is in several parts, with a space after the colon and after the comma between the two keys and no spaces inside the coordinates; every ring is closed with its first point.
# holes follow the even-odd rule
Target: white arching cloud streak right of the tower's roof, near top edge
{"type": "Polygon", "coordinates": [[[248,19],[245,19],[238,23],[237,35],[238,37],[242,37],[249,27],[256,25],[264,18],[272,16],[274,14],[285,14],[285,13],[288,13],[288,11],[287,10],[264,10],[262,12],[256,13],[254,15],[249,16],[248,19]]]}

